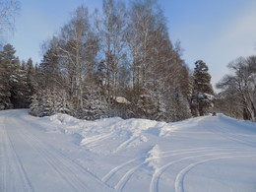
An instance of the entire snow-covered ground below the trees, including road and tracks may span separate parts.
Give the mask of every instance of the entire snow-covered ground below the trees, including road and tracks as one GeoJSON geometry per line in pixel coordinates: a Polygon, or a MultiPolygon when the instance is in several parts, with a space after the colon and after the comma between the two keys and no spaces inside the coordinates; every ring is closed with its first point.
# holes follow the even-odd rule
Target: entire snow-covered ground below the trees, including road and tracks
{"type": "Polygon", "coordinates": [[[0,111],[0,191],[256,191],[256,124],[0,111]]]}

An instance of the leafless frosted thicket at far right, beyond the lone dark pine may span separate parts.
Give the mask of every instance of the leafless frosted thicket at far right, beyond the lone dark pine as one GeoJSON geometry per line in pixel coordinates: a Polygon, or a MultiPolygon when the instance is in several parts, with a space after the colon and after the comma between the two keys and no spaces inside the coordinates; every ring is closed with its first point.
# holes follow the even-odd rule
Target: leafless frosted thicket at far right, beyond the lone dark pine
{"type": "Polygon", "coordinates": [[[256,121],[256,56],[240,57],[228,64],[231,75],[217,85],[216,107],[226,115],[256,121]]]}

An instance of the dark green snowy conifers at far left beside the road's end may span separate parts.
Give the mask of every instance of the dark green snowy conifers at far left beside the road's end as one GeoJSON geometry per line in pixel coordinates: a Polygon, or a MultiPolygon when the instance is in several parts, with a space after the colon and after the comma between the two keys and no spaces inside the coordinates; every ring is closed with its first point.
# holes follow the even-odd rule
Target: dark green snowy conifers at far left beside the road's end
{"type": "Polygon", "coordinates": [[[6,44],[0,51],[0,109],[29,107],[35,94],[35,68],[32,59],[20,62],[15,48],[6,44]]]}

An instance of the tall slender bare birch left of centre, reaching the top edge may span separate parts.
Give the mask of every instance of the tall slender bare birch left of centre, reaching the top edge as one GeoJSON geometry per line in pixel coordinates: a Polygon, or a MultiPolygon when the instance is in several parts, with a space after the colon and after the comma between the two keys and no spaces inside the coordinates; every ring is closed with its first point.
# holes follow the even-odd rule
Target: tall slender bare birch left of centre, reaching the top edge
{"type": "Polygon", "coordinates": [[[125,4],[115,0],[103,0],[102,18],[96,17],[96,29],[100,38],[100,58],[105,67],[106,96],[117,96],[120,65],[124,58],[124,32],[126,29],[125,4]]]}

